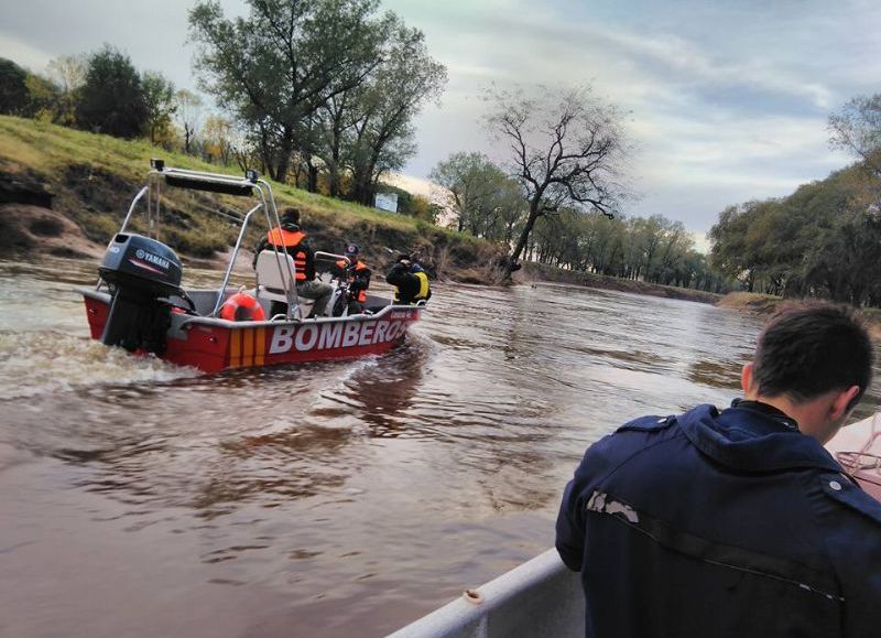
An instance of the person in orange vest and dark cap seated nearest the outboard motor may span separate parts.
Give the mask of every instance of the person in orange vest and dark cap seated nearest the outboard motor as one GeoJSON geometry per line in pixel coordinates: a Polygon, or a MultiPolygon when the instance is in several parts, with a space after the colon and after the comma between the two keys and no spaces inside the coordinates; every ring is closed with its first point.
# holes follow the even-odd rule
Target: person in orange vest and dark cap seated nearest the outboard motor
{"type": "MultiPolygon", "coordinates": [[[[300,210],[297,208],[285,208],[281,216],[281,228],[270,229],[267,236],[260,239],[254,248],[254,267],[257,267],[257,256],[260,255],[260,251],[272,246],[279,249],[284,247],[287,255],[294,259],[297,296],[315,300],[315,305],[312,306],[312,312],[306,318],[324,315],[334,289],[330,284],[315,281],[315,251],[312,249],[306,234],[300,228],[300,210]]],[[[273,301],[270,316],[284,314],[286,310],[287,304],[273,301]]]]}

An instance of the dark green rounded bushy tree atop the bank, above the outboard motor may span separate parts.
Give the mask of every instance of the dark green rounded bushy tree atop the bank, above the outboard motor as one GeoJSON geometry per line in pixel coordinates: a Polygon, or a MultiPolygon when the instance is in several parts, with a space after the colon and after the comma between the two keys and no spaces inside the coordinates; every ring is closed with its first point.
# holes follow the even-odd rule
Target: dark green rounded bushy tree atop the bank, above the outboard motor
{"type": "Polygon", "coordinates": [[[143,131],[148,116],[141,77],[129,56],[110,45],[94,53],[76,106],[78,126],[118,138],[134,138],[143,131]]]}

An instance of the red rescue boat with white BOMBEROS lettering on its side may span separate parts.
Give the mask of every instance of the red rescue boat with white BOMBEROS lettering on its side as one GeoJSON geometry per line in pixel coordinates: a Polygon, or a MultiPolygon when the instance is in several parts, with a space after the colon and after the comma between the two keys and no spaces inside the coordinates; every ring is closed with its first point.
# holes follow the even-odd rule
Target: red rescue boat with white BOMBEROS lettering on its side
{"type": "MultiPolygon", "coordinates": [[[[296,293],[296,267],[284,247],[257,256],[253,286],[230,285],[233,266],[252,219],[263,218],[265,228],[280,229],[275,198],[270,184],[257,172],[243,177],[166,167],[151,161],[146,184],[134,196],[119,231],[113,236],[98,268],[95,288],[79,288],[86,304],[91,337],[132,353],[154,354],[181,366],[205,372],[230,368],[300,364],[380,355],[400,344],[410,324],[418,321],[424,302],[396,305],[369,294],[363,313],[348,314],[347,282],[322,278],[333,294],[325,313],[305,318],[312,300],[296,293]],[[164,188],[183,188],[248,197],[247,213],[230,214],[219,207],[210,214],[238,226],[238,238],[217,288],[184,288],[183,263],[175,251],[159,239],[164,188]],[[134,215],[143,213],[143,218],[134,215]],[[139,233],[131,230],[137,224],[139,233]],[[284,313],[270,315],[273,302],[284,313]],[[334,316],[334,307],[341,307],[334,316]]],[[[342,255],[315,253],[316,264],[347,260],[342,255]]]]}

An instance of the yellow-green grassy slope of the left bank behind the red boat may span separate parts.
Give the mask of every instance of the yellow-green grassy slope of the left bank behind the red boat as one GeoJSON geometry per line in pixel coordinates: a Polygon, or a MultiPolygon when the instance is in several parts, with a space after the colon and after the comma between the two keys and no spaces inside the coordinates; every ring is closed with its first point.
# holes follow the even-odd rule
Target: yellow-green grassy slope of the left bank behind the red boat
{"type": "MultiPolygon", "coordinates": [[[[55,194],[53,208],[70,217],[99,242],[118,228],[133,195],[143,185],[151,158],[163,158],[168,166],[210,172],[238,171],[208,164],[196,158],[165,151],[144,141],[126,141],[58,127],[45,122],[0,116],[0,172],[29,175],[55,194]]],[[[479,278],[480,269],[497,253],[485,241],[449,233],[401,215],[384,213],[315,195],[286,184],[272,183],[279,207],[297,206],[317,249],[341,250],[347,241],[361,244],[377,262],[388,260],[383,247],[420,248],[438,273],[479,278]]],[[[168,193],[166,191],[166,193],[168,193]]],[[[173,197],[174,198],[174,197],[173,197]]],[[[186,217],[180,228],[177,248],[184,253],[206,256],[222,250],[235,236],[229,229],[205,221],[197,210],[205,205],[176,197],[173,206],[186,217]],[[189,230],[189,235],[187,235],[189,230]]],[[[225,203],[235,205],[231,198],[225,203]]]]}

